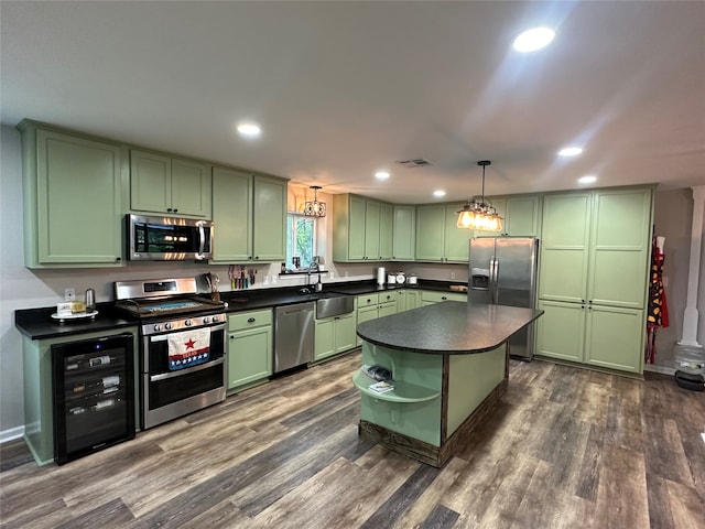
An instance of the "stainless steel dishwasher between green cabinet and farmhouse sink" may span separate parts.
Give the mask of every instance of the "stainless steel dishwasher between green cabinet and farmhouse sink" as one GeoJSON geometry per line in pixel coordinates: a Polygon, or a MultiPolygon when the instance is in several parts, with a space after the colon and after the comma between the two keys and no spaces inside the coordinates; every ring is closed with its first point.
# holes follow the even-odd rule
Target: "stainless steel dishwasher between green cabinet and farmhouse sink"
{"type": "Polygon", "coordinates": [[[274,310],[274,373],[313,360],[315,303],[295,303],[274,310]]]}

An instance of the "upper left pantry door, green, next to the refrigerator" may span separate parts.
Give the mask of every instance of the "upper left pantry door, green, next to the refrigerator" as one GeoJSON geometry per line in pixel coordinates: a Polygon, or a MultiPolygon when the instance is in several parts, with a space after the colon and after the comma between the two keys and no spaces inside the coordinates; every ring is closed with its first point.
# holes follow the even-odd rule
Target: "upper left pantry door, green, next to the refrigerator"
{"type": "Polygon", "coordinates": [[[539,298],[586,301],[590,202],[589,193],[544,197],[539,298]]]}

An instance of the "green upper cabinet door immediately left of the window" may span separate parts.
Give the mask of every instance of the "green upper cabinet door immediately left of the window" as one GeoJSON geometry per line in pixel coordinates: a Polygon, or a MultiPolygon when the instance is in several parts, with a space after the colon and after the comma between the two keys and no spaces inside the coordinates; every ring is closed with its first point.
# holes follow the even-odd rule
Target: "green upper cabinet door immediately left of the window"
{"type": "Polygon", "coordinates": [[[283,261],[286,257],[286,181],[256,175],[253,192],[252,259],[283,261]]]}

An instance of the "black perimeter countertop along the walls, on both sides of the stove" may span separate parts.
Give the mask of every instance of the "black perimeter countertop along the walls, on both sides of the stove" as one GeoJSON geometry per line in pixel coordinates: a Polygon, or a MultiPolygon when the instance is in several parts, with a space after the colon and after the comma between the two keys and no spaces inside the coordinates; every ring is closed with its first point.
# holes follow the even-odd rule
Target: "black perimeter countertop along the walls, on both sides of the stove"
{"type": "MultiPolygon", "coordinates": [[[[449,291],[451,284],[446,281],[422,280],[419,285],[389,285],[379,287],[375,281],[350,281],[325,283],[323,292],[302,294],[299,287],[284,287],[276,289],[250,289],[220,292],[220,299],[227,302],[226,311],[242,312],[272,306],[289,305],[292,303],[305,303],[319,300],[329,295],[358,295],[371,292],[389,292],[400,289],[420,289],[449,291]]],[[[56,338],[73,334],[93,333],[95,331],[110,332],[120,327],[135,326],[139,322],[126,317],[116,311],[112,302],[98,303],[98,315],[95,320],[72,320],[59,323],[52,319],[56,312],[55,306],[41,309],[19,310],[14,313],[14,325],[24,335],[32,339],[56,338]]]]}

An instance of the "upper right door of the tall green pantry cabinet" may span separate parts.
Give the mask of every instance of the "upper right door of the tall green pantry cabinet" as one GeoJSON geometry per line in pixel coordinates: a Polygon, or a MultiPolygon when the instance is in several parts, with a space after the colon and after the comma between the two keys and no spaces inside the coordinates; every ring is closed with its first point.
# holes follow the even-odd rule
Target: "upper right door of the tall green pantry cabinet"
{"type": "Polygon", "coordinates": [[[593,304],[646,306],[650,229],[650,188],[595,193],[587,294],[593,304]]]}

